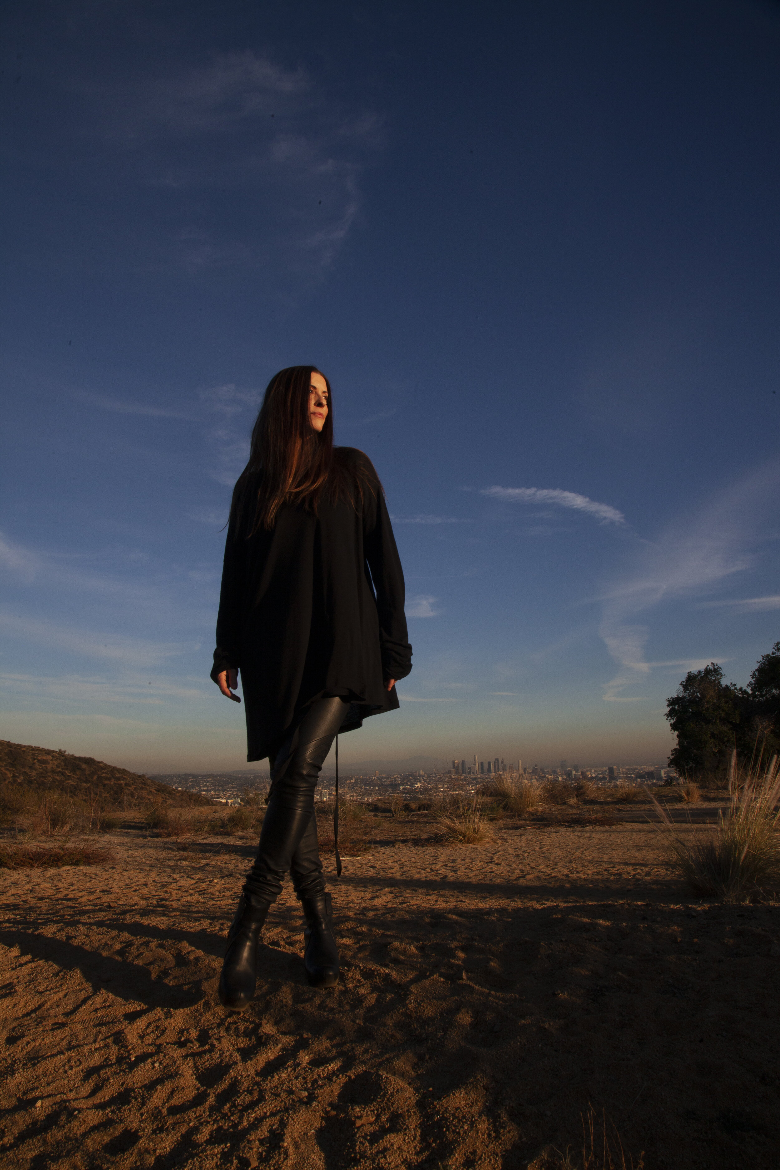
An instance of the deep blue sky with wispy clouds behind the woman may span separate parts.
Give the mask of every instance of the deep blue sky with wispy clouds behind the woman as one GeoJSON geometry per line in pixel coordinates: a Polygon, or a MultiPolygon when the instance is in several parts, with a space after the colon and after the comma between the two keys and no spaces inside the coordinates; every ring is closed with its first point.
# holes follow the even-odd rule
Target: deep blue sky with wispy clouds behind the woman
{"type": "Polygon", "coordinates": [[[230,488],[312,362],[407,576],[347,762],[665,760],[780,636],[780,9],[6,2],[2,723],[242,766],[230,488]]]}

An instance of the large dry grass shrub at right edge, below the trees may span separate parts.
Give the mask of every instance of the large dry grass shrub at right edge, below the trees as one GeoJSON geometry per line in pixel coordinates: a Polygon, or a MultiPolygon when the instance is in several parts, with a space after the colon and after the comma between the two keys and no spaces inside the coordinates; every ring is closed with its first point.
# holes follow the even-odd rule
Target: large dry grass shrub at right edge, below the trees
{"type": "Polygon", "coordinates": [[[669,813],[654,798],[662,830],[686,882],[704,897],[739,903],[780,888],[780,775],[773,756],[764,773],[759,765],[739,773],[737,752],[729,773],[730,804],[718,813],[715,833],[681,837],[669,813]]]}

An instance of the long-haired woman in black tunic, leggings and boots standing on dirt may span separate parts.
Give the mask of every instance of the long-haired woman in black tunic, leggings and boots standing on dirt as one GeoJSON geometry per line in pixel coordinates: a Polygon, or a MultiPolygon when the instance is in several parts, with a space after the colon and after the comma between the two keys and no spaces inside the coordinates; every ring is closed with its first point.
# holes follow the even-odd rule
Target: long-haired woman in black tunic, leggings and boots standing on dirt
{"type": "Polygon", "coordinates": [[[247,759],[269,757],[271,787],[219,997],[244,1009],[257,942],[288,870],[301,901],[309,983],[331,986],[338,949],[317,847],[315,787],[339,731],[399,707],[412,669],[403,573],[371,461],[333,447],[327,379],[313,366],[271,378],[230,504],[212,679],[234,702],[239,670],[247,759]]]}

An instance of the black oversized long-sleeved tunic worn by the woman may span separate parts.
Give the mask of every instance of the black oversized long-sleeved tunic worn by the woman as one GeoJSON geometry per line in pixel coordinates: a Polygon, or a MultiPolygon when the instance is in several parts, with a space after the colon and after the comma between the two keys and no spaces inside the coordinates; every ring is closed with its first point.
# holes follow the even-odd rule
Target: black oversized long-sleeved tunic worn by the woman
{"type": "Polygon", "coordinates": [[[385,497],[368,457],[337,448],[368,475],[364,501],[332,503],[318,515],[284,505],[270,531],[247,539],[256,473],[243,490],[250,507],[228,526],[212,679],[239,667],[247,716],[247,759],[263,759],[312,700],[350,702],[341,728],[399,707],[389,679],[412,669],[403,614],[403,572],[385,497]]]}

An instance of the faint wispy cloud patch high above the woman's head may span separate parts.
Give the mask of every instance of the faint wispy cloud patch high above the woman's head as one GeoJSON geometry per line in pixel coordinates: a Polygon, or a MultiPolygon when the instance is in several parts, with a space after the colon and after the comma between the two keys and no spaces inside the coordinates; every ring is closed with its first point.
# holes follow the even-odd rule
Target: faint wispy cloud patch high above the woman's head
{"type": "Polygon", "coordinates": [[[346,108],[306,69],[250,50],[150,70],[130,85],[91,85],[88,96],[127,184],[144,197],[154,188],[189,197],[178,228],[147,239],[138,262],[262,268],[263,283],[270,277],[284,297],[332,266],[381,143],[373,112],[346,108]]]}

